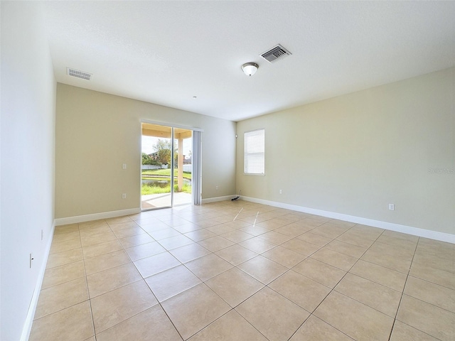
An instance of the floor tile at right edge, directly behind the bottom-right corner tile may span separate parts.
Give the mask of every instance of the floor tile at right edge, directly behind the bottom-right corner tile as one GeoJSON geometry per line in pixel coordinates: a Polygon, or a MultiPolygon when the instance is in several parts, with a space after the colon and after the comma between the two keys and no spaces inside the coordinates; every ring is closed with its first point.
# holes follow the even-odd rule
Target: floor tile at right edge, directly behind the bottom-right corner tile
{"type": "Polygon", "coordinates": [[[406,281],[405,294],[455,313],[455,290],[409,276],[406,281]]]}

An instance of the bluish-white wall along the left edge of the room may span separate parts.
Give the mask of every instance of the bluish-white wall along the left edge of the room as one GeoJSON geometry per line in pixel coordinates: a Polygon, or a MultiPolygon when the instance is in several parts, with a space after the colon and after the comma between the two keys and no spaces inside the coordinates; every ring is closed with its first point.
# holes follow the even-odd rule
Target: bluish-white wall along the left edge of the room
{"type": "Polygon", "coordinates": [[[40,4],[1,1],[0,40],[0,340],[26,340],[54,219],[55,79],[40,4]]]}

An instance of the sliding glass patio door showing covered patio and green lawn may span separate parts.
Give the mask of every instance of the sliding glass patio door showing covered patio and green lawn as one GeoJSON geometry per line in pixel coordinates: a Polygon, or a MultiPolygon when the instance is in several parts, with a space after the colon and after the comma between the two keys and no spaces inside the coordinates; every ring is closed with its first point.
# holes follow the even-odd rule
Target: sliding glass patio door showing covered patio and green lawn
{"type": "Polygon", "coordinates": [[[192,203],[193,131],[141,123],[141,210],[192,203]]]}

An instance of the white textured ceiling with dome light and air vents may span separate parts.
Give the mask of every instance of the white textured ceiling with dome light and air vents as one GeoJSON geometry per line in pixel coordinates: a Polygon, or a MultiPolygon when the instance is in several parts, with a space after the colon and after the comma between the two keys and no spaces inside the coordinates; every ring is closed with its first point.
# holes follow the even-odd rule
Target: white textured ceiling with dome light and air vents
{"type": "Polygon", "coordinates": [[[58,82],[232,121],[455,65],[455,1],[43,4],[58,82]]]}

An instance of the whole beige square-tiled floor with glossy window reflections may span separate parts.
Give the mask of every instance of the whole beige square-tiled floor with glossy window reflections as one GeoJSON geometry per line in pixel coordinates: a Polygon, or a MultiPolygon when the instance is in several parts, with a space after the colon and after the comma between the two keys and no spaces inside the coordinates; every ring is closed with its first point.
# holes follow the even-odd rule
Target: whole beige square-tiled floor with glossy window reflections
{"type": "Polygon", "coordinates": [[[455,245],[252,202],[55,228],[31,341],[455,340],[455,245]]]}

